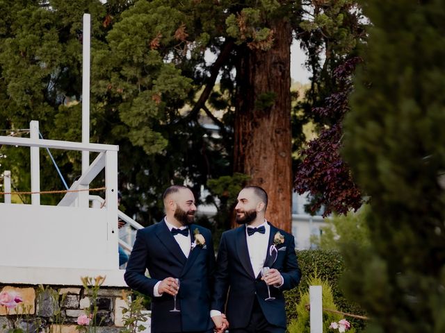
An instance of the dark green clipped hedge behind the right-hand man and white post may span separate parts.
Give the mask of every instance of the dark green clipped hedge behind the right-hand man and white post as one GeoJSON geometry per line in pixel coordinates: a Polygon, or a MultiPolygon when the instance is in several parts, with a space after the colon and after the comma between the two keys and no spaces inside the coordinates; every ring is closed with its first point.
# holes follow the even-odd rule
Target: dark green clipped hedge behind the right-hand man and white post
{"type": "MultiPolygon", "coordinates": [[[[309,289],[307,279],[315,273],[322,280],[326,280],[332,284],[334,302],[339,311],[366,316],[364,310],[357,304],[346,300],[341,290],[339,284],[345,266],[340,253],[323,250],[301,250],[297,251],[297,257],[302,274],[300,284],[297,288],[284,293],[286,297],[286,314],[289,323],[292,318],[297,318],[296,305],[300,300],[300,293],[304,293],[309,289]]],[[[355,327],[357,332],[364,330],[366,325],[365,321],[351,317],[345,318],[355,327]]]]}

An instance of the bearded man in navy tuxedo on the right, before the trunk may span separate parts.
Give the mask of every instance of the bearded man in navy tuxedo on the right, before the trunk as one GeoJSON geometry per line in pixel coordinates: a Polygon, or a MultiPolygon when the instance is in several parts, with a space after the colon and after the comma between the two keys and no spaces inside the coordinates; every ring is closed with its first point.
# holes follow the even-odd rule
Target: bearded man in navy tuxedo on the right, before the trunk
{"type": "Polygon", "coordinates": [[[230,333],[284,333],[283,291],[300,282],[293,236],[266,221],[267,203],[261,187],[242,189],[235,207],[242,225],[220,240],[211,318],[218,327],[225,311],[230,333]]]}

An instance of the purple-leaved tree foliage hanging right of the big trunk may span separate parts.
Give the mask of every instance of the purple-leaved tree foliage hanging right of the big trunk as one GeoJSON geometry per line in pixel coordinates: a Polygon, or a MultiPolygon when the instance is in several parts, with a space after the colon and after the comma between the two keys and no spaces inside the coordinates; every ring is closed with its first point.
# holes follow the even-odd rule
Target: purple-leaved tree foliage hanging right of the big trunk
{"type": "Polygon", "coordinates": [[[324,206],[323,216],[332,212],[346,214],[363,203],[362,193],[355,184],[348,164],[341,158],[343,118],[349,110],[348,96],[353,89],[352,74],[360,58],[346,60],[334,71],[337,92],[325,99],[325,106],[314,108],[323,119],[330,119],[320,135],[309,142],[301,154],[302,162],[296,171],[294,189],[299,194],[309,192],[312,214],[324,206]]]}

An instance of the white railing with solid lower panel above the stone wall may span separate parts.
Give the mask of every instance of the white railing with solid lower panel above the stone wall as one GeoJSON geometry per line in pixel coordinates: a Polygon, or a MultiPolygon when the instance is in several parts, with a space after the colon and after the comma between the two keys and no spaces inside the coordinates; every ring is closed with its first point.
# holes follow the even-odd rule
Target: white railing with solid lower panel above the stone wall
{"type": "MultiPolygon", "coordinates": [[[[11,204],[10,194],[0,203],[0,216],[7,217],[0,221],[0,234],[19,235],[31,251],[17,248],[11,237],[0,243],[0,252],[18,250],[0,257],[0,266],[117,270],[118,146],[40,139],[38,121],[31,121],[29,138],[0,136],[0,145],[25,146],[31,151],[31,205],[11,204]],[[40,148],[98,153],[56,206],[40,205],[40,148]],[[102,170],[105,200],[115,204],[95,210],[90,208],[89,187],[102,170]]],[[[10,173],[3,172],[3,182],[3,191],[10,193],[10,173]]],[[[128,223],[136,225],[135,221],[128,223]]]]}

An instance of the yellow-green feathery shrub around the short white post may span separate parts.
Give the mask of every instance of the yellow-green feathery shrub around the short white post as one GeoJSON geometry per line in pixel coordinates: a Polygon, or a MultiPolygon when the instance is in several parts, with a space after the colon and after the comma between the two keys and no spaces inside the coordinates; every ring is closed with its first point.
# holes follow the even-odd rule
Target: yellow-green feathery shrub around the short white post
{"type": "MultiPolygon", "coordinates": [[[[332,293],[331,284],[321,278],[318,278],[316,272],[314,275],[308,278],[309,286],[321,286],[321,298],[323,309],[330,309],[334,311],[337,310],[337,306],[334,301],[334,294],[332,293]]],[[[293,319],[288,325],[287,330],[289,333],[309,333],[310,323],[309,323],[309,291],[300,294],[300,302],[297,305],[297,319],[293,319]]],[[[323,311],[323,332],[330,331],[329,326],[334,321],[339,321],[343,318],[341,314],[337,314],[331,311],[323,311]]],[[[351,327],[348,332],[355,332],[355,328],[351,327]]]]}

